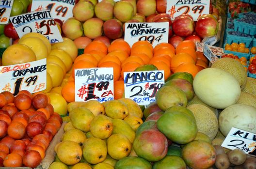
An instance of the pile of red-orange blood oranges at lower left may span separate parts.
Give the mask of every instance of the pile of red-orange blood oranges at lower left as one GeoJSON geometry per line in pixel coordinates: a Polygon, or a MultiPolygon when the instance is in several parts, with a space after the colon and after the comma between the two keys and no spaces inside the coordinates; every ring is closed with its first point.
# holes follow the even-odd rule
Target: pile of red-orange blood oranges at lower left
{"type": "Polygon", "coordinates": [[[62,118],[42,92],[2,92],[0,100],[0,167],[37,167],[62,118]]]}

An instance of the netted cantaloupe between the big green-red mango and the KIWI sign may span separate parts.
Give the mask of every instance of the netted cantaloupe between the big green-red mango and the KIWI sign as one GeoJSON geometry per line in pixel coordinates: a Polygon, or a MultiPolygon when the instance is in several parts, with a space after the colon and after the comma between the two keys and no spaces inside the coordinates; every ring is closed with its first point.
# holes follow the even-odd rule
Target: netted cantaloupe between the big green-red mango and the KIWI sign
{"type": "Polygon", "coordinates": [[[191,104],[187,108],[194,114],[198,131],[214,139],[219,129],[215,113],[202,104],[191,104]]]}

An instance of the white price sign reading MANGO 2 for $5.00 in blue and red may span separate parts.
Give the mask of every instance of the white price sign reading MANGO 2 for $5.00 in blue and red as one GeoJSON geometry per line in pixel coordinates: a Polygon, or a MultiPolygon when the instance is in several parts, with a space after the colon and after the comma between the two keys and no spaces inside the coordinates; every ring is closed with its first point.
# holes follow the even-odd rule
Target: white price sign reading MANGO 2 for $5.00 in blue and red
{"type": "Polygon", "coordinates": [[[139,105],[156,101],[155,95],[164,84],[163,70],[125,72],[124,77],[125,97],[139,105]]]}

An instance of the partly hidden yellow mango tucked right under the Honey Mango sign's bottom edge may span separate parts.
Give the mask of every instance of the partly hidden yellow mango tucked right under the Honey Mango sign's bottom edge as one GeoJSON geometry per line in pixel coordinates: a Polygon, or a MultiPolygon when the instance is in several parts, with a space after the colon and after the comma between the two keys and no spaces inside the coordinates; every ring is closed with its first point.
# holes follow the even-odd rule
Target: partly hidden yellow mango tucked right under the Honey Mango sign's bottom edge
{"type": "Polygon", "coordinates": [[[94,116],[97,116],[99,114],[105,114],[104,106],[97,100],[86,101],[82,104],[81,107],[89,109],[94,114],[94,116]]]}

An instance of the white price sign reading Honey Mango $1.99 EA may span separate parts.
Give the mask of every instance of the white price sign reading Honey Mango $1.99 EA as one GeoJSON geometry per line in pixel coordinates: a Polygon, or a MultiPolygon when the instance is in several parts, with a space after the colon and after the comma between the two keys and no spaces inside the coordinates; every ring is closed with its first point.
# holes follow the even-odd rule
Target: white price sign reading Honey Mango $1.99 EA
{"type": "Polygon", "coordinates": [[[75,70],[76,101],[90,99],[99,102],[114,99],[113,68],[75,70]]]}

